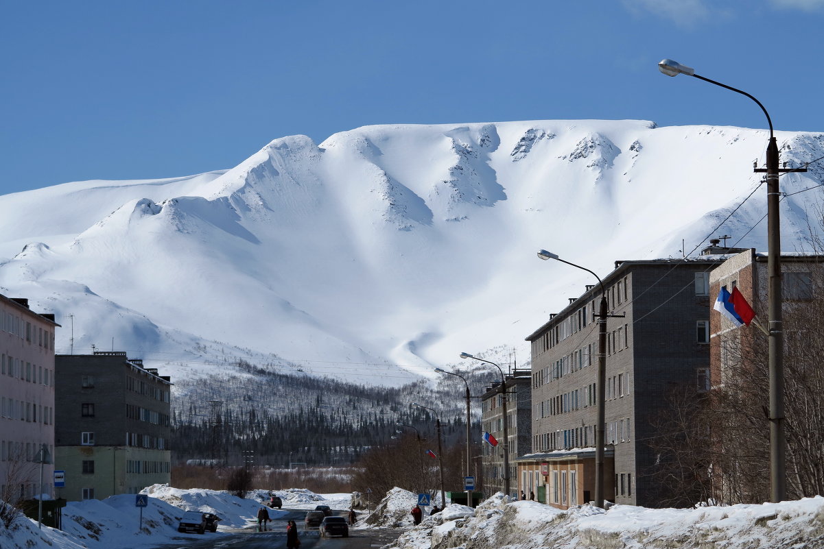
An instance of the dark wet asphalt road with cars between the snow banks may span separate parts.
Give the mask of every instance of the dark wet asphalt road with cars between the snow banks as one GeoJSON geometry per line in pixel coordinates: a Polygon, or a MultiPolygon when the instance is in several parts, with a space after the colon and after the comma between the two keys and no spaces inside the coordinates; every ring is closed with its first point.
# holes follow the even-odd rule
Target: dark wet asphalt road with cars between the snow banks
{"type": "MultiPolygon", "coordinates": [[[[317,528],[303,528],[303,518],[306,510],[282,509],[288,514],[280,519],[269,522],[268,532],[257,532],[257,526],[233,530],[231,535],[226,533],[204,533],[203,536],[183,537],[174,542],[158,546],[157,549],[285,549],[286,521],[294,520],[301,540],[300,549],[377,549],[386,543],[395,541],[402,530],[349,531],[349,537],[320,537],[317,528]]],[[[335,511],[335,514],[344,514],[344,511],[335,511]]]]}

